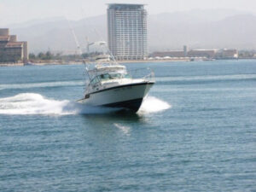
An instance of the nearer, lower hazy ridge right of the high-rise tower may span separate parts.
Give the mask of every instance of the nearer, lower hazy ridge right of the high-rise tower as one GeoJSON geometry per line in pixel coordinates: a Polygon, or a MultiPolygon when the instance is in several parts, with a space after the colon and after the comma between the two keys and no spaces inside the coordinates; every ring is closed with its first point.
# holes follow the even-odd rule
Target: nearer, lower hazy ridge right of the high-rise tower
{"type": "Polygon", "coordinates": [[[180,49],[187,44],[193,49],[256,49],[256,16],[234,15],[218,21],[201,23],[151,22],[151,49],[180,49]]]}

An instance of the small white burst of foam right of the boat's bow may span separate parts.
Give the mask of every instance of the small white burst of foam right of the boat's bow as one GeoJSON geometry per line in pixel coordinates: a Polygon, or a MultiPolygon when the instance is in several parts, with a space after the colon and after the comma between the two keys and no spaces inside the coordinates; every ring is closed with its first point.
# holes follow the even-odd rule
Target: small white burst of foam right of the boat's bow
{"type": "Polygon", "coordinates": [[[168,102],[164,102],[154,96],[147,96],[143,100],[139,113],[156,113],[171,107],[172,106],[168,102]]]}

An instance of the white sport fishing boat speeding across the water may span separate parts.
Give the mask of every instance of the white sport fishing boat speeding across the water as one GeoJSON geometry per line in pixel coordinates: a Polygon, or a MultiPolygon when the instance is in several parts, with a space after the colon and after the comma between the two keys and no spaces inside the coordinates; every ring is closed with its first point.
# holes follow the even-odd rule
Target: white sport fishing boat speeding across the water
{"type": "Polygon", "coordinates": [[[136,113],[154,84],[154,73],[148,68],[135,70],[135,74],[128,73],[126,67],[114,61],[112,55],[97,56],[93,67],[89,69],[91,64],[86,63],[89,81],[85,86],[84,98],[78,102],[91,106],[125,108],[136,113]],[[136,78],[136,74],[143,77],[136,78]]]}

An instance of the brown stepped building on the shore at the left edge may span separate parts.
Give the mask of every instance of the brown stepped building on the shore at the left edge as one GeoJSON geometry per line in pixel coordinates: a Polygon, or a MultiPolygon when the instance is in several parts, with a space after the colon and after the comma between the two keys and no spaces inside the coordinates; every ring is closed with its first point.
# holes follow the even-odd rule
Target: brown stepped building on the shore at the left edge
{"type": "Polygon", "coordinates": [[[0,28],[0,62],[27,62],[27,42],[17,41],[8,28],[0,28]]]}

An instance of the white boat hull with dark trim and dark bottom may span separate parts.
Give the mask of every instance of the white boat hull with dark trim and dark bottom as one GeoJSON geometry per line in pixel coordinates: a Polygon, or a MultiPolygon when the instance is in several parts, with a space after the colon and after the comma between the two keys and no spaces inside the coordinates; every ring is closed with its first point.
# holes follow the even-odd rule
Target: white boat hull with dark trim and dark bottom
{"type": "Polygon", "coordinates": [[[92,106],[126,108],[137,112],[153,84],[154,82],[143,82],[114,86],[87,94],[78,102],[92,106]]]}

